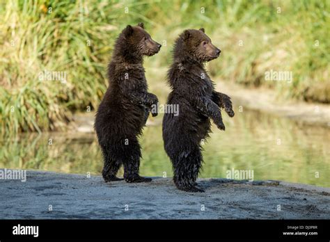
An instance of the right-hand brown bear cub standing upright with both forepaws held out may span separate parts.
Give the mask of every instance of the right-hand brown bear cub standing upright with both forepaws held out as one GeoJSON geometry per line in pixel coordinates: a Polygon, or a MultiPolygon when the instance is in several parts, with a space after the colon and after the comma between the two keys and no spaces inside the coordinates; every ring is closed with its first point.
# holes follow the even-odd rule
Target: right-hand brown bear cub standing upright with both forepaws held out
{"type": "Polygon", "coordinates": [[[178,105],[179,115],[165,113],[163,139],[173,164],[173,181],[183,191],[203,192],[196,187],[196,179],[203,163],[200,143],[210,132],[210,119],[225,130],[220,108],[230,117],[235,115],[230,97],[214,90],[204,67],[220,52],[203,28],[188,29],[175,41],[173,64],[168,70],[168,104],[178,105]]]}

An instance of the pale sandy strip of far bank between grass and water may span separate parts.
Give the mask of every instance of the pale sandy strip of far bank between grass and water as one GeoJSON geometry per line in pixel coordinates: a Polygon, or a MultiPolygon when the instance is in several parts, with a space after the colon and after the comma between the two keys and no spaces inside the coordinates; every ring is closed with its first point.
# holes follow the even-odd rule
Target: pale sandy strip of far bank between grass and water
{"type": "MultiPolygon", "coordinates": [[[[307,103],[290,100],[276,99],[274,90],[267,88],[242,88],[228,81],[217,82],[218,92],[228,94],[233,101],[235,113],[244,108],[251,111],[259,111],[277,118],[287,118],[299,125],[308,125],[330,129],[330,105],[320,103],[307,103]]],[[[166,102],[166,101],[165,101],[166,102]]],[[[224,111],[223,111],[224,112],[224,111]]],[[[77,112],[73,114],[73,120],[68,124],[68,131],[81,133],[93,133],[95,111],[90,113],[77,112]]],[[[147,126],[161,124],[162,120],[154,118],[147,120],[147,126]]]]}

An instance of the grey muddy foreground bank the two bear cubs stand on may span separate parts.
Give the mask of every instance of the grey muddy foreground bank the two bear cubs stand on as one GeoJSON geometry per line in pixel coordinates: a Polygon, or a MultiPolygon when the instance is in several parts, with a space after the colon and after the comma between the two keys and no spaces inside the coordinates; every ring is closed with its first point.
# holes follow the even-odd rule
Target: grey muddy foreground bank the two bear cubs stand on
{"type": "Polygon", "coordinates": [[[329,219],[330,188],[285,181],[198,179],[185,193],[171,178],[104,183],[101,176],[28,170],[0,180],[1,219],[329,219]],[[49,207],[52,206],[52,211],[49,207]],[[278,210],[280,209],[280,210],[278,210]]]}

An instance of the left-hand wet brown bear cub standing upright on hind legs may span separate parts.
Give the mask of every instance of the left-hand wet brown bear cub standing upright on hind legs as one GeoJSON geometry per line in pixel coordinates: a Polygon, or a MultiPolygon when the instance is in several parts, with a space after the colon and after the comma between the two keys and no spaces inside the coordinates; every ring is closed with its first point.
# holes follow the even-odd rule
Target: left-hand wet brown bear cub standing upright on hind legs
{"type": "Polygon", "coordinates": [[[124,167],[127,182],[151,181],[139,176],[141,147],[138,136],[146,124],[151,106],[158,99],[148,92],[143,56],[157,54],[160,47],[144,30],[143,24],[128,25],[116,40],[108,66],[109,88],[95,117],[95,131],[102,149],[104,181],[118,181],[124,167]]]}

